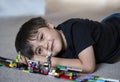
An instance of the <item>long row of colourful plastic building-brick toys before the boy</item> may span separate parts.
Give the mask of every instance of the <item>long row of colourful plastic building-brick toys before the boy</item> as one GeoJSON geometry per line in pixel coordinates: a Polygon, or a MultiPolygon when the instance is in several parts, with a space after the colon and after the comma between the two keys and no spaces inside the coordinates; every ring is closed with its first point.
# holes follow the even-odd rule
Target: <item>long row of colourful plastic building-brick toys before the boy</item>
{"type": "Polygon", "coordinates": [[[18,70],[22,70],[23,72],[50,75],[53,77],[72,80],[75,82],[119,82],[119,80],[106,79],[95,75],[84,76],[83,74],[81,74],[81,69],[66,66],[58,66],[56,68],[53,68],[51,66],[50,52],[48,52],[48,55],[46,57],[47,61],[44,63],[44,65],[41,65],[39,61],[35,60],[28,60],[28,65],[19,63],[20,58],[20,53],[18,54],[16,60],[0,57],[0,66],[15,68],[18,70]]]}

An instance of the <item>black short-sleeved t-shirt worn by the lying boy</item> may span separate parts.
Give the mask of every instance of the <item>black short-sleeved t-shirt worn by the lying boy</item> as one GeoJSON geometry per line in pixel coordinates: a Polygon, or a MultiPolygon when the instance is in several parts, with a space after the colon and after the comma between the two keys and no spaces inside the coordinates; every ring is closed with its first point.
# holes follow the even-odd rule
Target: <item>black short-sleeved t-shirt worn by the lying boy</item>
{"type": "Polygon", "coordinates": [[[120,20],[111,19],[104,23],[88,19],[69,19],[57,26],[62,30],[67,50],[57,57],[78,58],[78,54],[89,46],[93,46],[96,63],[112,63],[120,54],[120,20]]]}

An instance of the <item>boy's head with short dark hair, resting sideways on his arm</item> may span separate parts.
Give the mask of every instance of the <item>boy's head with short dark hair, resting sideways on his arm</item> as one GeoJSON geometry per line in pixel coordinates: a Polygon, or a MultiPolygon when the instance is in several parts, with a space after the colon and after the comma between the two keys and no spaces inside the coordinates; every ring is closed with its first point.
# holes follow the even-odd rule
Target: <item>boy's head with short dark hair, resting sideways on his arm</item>
{"type": "Polygon", "coordinates": [[[63,47],[61,32],[41,17],[32,18],[22,25],[15,41],[17,52],[28,58],[34,55],[52,56],[58,54],[63,47]]]}

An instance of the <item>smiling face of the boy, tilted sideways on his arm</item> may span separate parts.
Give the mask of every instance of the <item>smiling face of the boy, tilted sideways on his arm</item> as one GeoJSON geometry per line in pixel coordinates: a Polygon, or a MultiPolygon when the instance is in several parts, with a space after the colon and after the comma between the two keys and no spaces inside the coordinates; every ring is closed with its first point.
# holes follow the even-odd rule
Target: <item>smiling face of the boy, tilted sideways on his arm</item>
{"type": "Polygon", "coordinates": [[[48,51],[51,51],[52,56],[56,56],[63,47],[62,36],[53,27],[38,29],[35,37],[32,37],[29,42],[32,44],[34,54],[42,56],[46,56],[48,51]]]}

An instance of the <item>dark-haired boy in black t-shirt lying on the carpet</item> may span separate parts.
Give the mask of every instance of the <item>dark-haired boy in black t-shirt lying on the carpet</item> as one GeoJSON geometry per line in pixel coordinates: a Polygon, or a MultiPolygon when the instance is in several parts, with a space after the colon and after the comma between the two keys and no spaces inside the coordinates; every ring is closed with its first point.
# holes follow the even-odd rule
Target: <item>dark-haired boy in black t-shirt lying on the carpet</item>
{"type": "Polygon", "coordinates": [[[20,28],[15,47],[27,59],[46,61],[52,53],[51,64],[82,69],[92,73],[96,63],[113,63],[120,54],[120,14],[102,22],[69,19],[54,27],[41,17],[32,18],[20,28]]]}

